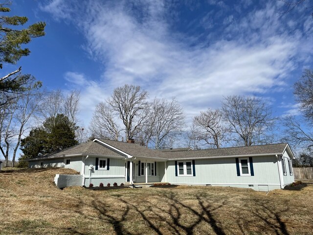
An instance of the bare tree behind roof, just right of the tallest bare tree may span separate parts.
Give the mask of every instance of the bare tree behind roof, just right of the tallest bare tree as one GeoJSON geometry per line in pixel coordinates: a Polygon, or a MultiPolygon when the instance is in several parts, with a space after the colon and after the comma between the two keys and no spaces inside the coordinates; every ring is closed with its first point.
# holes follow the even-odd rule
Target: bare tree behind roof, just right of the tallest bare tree
{"type": "Polygon", "coordinates": [[[155,99],[152,107],[152,141],[155,149],[159,149],[162,145],[166,146],[166,140],[173,140],[181,133],[184,127],[185,116],[178,103],[173,98],[171,101],[166,99],[155,99]]]}

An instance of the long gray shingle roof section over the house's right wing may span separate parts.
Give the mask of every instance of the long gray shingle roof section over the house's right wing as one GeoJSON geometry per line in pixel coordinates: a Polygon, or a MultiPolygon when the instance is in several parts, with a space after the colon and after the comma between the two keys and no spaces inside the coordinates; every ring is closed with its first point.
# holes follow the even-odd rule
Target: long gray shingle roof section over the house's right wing
{"type": "Polygon", "coordinates": [[[283,154],[287,143],[229,147],[217,149],[204,149],[194,151],[177,151],[168,152],[168,159],[184,159],[184,158],[206,158],[206,157],[222,157],[222,156],[241,156],[241,155],[259,155],[259,154],[283,154]]]}

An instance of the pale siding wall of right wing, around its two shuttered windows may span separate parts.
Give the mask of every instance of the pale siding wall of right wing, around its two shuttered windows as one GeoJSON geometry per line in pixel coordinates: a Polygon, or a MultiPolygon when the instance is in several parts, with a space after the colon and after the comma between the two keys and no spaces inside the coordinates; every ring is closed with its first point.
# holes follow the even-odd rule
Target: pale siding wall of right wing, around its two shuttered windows
{"type": "MultiPolygon", "coordinates": [[[[235,158],[195,160],[196,176],[175,176],[175,161],[167,162],[167,181],[172,184],[280,188],[275,156],[252,157],[254,176],[237,176],[235,158]]],[[[190,160],[191,161],[191,160],[190,160]]]]}

